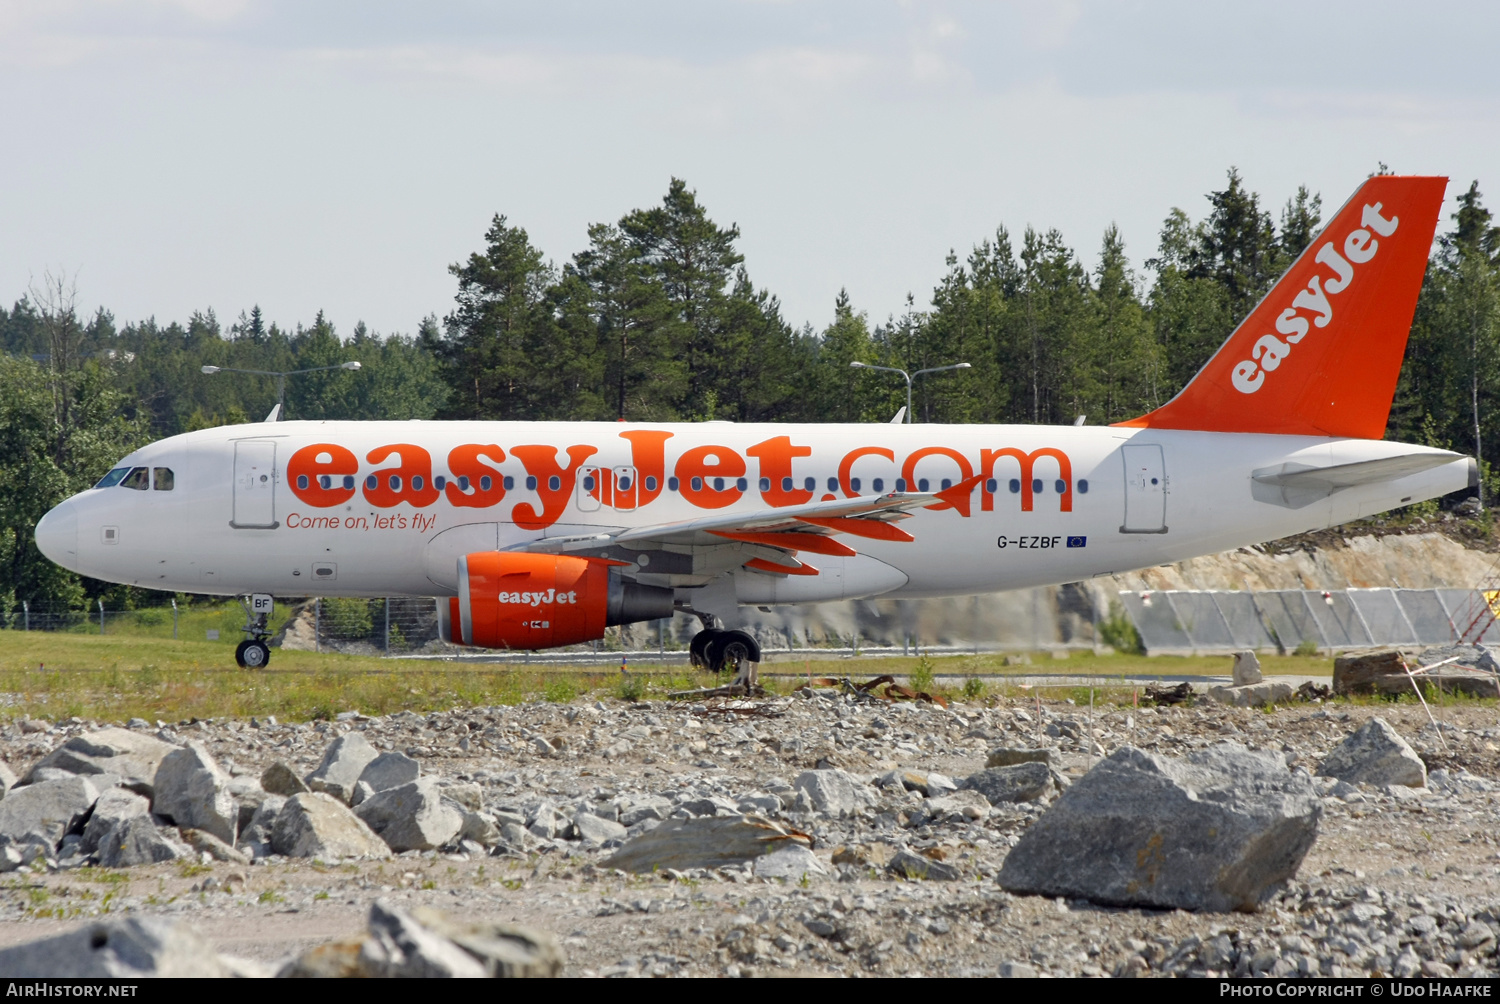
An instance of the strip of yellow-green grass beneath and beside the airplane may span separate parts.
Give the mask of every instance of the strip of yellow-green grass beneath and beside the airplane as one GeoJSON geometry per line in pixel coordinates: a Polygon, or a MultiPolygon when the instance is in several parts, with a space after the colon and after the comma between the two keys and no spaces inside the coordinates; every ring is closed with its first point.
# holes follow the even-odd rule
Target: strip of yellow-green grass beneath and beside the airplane
{"type": "MultiPolygon", "coordinates": [[[[168,627],[170,633],[170,627],[168,627]]],[[[814,677],[870,678],[880,674],[933,674],[933,689],[948,699],[988,702],[1035,693],[1020,677],[1101,677],[1100,704],[1130,702],[1130,677],[1227,675],[1227,656],[1148,657],[1074,653],[1066,659],[1032,654],[1030,665],[1005,665],[1002,654],[922,656],[890,659],[832,657],[810,663],[814,677]],[[1112,683],[1118,680],[1118,683],[1112,683]]],[[[1011,660],[1014,662],[1014,659],[1011,660]]],[[[762,683],[772,693],[801,686],[802,659],[766,662],[762,683]],[[784,674],[784,675],[780,675],[784,674]]],[[[1322,656],[1262,656],[1268,675],[1326,677],[1334,660],[1322,656]]],[[[600,666],[516,666],[428,659],[382,659],[334,653],[274,651],[264,671],[234,665],[232,645],[218,641],[82,635],[72,632],[0,630],[0,693],[10,695],[9,716],[84,717],[123,722],[142,717],[174,722],[189,717],[250,717],[274,714],[302,722],[339,711],[364,714],[434,711],[466,705],[568,702],[578,698],[660,699],[670,690],[723,683],[686,666],[651,672],[638,665],[628,677],[600,666]],[[45,665],[45,669],[40,666],[45,665]]],[[[1041,683],[1048,698],[1088,701],[1088,687],[1041,683]],[[1077,693],[1076,693],[1077,692],[1077,693]]],[[[1452,698],[1448,698],[1452,699],[1452,698]]]]}

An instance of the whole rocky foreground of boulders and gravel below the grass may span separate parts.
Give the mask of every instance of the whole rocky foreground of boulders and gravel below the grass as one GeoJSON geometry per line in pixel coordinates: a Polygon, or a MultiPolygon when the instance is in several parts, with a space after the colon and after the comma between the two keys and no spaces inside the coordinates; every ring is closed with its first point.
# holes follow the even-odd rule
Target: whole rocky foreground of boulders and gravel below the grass
{"type": "Polygon", "coordinates": [[[177,971],[201,938],[252,975],[504,974],[518,944],[576,975],[1494,975],[1500,729],[1436,713],[819,690],[20,722],[0,971],[177,971]],[[1244,852],[1266,834],[1275,867],[1244,852]],[[102,947],[34,941],[76,930],[102,947]]]}

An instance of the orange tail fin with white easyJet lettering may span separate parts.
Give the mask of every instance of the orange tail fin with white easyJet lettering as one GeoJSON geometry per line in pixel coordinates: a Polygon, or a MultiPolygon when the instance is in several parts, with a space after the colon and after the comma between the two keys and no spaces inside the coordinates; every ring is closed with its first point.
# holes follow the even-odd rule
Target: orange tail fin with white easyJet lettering
{"type": "Polygon", "coordinates": [[[1382,438],[1446,186],[1360,185],[1182,393],[1118,425],[1382,438]]]}

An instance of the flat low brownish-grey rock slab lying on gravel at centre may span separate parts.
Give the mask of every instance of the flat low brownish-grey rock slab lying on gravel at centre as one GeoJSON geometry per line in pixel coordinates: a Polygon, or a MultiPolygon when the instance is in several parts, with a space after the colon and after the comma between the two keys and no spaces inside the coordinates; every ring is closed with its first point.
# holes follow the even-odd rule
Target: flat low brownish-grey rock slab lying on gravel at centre
{"type": "Polygon", "coordinates": [[[786,843],[812,846],[812,839],[762,816],[699,816],[668,819],[630,837],[603,861],[622,872],[744,864],[786,843]]]}

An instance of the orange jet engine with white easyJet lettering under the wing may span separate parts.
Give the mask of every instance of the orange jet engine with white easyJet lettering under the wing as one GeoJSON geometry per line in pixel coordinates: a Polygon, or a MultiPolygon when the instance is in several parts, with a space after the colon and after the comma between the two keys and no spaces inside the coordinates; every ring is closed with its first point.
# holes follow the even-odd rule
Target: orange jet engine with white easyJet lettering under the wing
{"type": "Polygon", "coordinates": [[[616,563],[480,551],[459,558],[459,594],[438,602],[438,630],[458,645],[530,651],[670,615],[672,590],[626,579],[616,563]]]}

